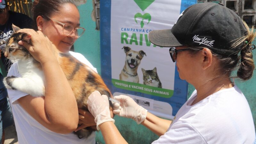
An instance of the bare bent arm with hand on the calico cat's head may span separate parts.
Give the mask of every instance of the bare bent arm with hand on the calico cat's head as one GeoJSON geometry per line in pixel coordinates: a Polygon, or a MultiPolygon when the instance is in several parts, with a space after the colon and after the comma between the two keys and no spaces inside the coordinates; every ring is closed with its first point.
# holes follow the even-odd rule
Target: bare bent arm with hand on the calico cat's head
{"type": "Polygon", "coordinates": [[[20,105],[40,124],[53,132],[69,133],[78,124],[78,108],[73,91],[59,66],[52,42],[42,32],[21,29],[19,32],[31,36],[33,46],[19,42],[41,63],[44,71],[45,96],[24,96],[18,100],[20,105]]]}

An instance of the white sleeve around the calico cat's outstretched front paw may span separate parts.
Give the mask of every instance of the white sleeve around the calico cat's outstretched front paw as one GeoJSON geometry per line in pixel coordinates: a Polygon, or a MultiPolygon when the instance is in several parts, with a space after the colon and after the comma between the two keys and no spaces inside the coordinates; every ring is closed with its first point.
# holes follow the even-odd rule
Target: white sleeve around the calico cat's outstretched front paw
{"type": "MultiPolygon", "coordinates": [[[[19,69],[18,62],[13,63],[11,68],[9,69],[7,76],[20,77],[20,73],[19,73],[18,69],[19,69]]],[[[9,100],[12,104],[17,104],[16,100],[28,95],[28,93],[21,92],[18,90],[13,90],[13,89],[7,89],[7,92],[8,92],[9,100]]]]}

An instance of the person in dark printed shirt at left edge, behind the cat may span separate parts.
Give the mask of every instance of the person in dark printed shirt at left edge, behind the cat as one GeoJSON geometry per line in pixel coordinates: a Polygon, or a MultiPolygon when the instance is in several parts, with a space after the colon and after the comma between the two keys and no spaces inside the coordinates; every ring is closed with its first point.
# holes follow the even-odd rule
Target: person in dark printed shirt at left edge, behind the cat
{"type": "MultiPolygon", "coordinates": [[[[13,33],[12,24],[20,28],[32,28],[33,20],[25,14],[7,10],[5,0],[0,0],[0,40],[6,41],[13,33]]],[[[0,49],[1,52],[1,49],[0,49]]],[[[4,64],[2,71],[8,71],[11,62],[1,52],[1,60],[4,64]]],[[[4,87],[3,75],[0,73],[0,141],[4,143],[4,129],[13,124],[12,110],[4,87]]]]}

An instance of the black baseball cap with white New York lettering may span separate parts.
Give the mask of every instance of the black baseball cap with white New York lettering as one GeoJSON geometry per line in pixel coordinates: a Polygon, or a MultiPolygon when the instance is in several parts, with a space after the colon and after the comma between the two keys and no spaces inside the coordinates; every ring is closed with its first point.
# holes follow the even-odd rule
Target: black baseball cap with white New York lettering
{"type": "Polygon", "coordinates": [[[215,53],[236,55],[242,44],[231,45],[247,34],[243,21],[227,7],[216,3],[200,3],[182,12],[172,29],[149,33],[151,43],[162,47],[207,47],[215,53]]]}

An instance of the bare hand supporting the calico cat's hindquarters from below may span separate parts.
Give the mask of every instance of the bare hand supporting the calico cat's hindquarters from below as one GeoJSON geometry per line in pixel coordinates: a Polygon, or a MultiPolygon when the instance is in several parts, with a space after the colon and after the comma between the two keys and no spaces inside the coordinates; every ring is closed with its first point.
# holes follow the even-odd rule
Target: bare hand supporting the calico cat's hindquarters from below
{"type": "Polygon", "coordinates": [[[89,127],[89,126],[94,126],[96,125],[95,121],[94,121],[94,117],[92,116],[92,114],[89,111],[85,111],[83,109],[78,109],[78,113],[79,113],[79,124],[80,126],[75,130],[79,131],[83,128],[89,127]]]}

